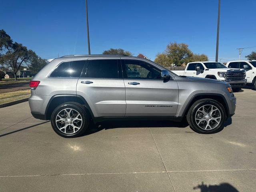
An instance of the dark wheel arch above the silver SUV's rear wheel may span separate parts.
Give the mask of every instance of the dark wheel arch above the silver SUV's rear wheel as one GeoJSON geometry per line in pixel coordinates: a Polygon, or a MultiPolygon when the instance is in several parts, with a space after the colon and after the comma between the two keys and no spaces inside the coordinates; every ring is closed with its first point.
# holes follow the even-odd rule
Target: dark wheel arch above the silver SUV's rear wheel
{"type": "Polygon", "coordinates": [[[52,96],[52,98],[48,102],[45,113],[44,113],[46,120],[50,120],[52,112],[57,106],[66,102],[77,102],[83,105],[87,110],[87,112],[89,112],[90,116],[94,118],[94,114],[92,113],[90,106],[82,96],[72,95],[72,94],[60,94],[60,95],[52,96]]]}

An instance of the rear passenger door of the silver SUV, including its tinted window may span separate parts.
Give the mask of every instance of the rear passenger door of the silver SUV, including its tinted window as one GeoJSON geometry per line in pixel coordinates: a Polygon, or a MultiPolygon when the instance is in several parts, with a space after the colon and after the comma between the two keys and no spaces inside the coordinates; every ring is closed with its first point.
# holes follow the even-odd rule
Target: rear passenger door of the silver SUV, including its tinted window
{"type": "Polygon", "coordinates": [[[88,59],[76,93],[84,97],[95,117],[124,116],[125,87],[120,58],[88,59]]]}

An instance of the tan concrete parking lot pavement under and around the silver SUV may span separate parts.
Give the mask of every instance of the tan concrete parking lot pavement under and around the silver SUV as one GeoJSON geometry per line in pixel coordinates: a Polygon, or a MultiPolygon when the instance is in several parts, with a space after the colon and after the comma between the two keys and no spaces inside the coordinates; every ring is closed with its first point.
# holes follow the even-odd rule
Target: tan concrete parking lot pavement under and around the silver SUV
{"type": "Polygon", "coordinates": [[[235,93],[221,132],[184,123],[105,122],[58,136],[28,102],[0,109],[0,191],[255,192],[256,91],[235,93]]]}

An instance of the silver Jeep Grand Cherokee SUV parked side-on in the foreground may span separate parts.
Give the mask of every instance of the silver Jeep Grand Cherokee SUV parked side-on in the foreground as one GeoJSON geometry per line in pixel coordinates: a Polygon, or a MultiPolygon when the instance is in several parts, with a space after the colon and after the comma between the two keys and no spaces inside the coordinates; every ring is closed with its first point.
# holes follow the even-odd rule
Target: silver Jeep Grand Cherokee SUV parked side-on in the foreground
{"type": "Polygon", "coordinates": [[[89,122],[186,118],[198,133],[220,131],[236,108],[226,82],[177,76],[144,58],[70,55],[47,64],[30,82],[35,118],[51,120],[63,137],[84,133],[89,122]]]}

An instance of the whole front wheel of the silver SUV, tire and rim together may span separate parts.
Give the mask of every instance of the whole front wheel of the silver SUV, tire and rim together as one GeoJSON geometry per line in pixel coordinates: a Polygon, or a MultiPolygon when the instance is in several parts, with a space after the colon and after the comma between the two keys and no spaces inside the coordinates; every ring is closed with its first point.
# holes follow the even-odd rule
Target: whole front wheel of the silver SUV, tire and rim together
{"type": "Polygon", "coordinates": [[[219,132],[223,129],[225,120],[226,112],[224,107],[212,99],[200,99],[196,101],[190,107],[187,114],[187,121],[190,128],[201,134],[219,132]],[[210,110],[214,111],[212,112],[210,110]]]}

